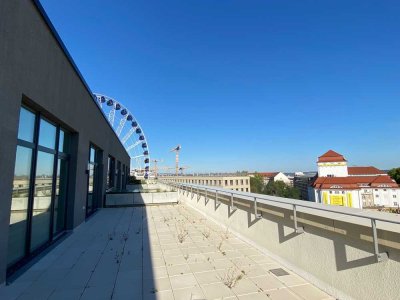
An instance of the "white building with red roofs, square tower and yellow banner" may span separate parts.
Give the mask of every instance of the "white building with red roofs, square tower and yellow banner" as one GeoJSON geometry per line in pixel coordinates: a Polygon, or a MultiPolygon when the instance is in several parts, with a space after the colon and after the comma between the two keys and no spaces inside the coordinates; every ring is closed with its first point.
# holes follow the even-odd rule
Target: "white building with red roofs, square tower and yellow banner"
{"type": "Polygon", "coordinates": [[[399,185],[385,172],[375,167],[348,167],[343,155],[332,150],[320,156],[317,165],[310,200],[356,208],[399,206],[399,185]]]}

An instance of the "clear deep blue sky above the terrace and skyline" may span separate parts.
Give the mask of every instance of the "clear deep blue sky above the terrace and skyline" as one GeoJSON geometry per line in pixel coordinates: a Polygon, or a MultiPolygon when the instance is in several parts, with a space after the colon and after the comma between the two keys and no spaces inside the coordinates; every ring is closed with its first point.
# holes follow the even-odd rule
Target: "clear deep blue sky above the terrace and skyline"
{"type": "Polygon", "coordinates": [[[42,0],[94,92],[191,171],[400,166],[400,1],[42,0]]]}

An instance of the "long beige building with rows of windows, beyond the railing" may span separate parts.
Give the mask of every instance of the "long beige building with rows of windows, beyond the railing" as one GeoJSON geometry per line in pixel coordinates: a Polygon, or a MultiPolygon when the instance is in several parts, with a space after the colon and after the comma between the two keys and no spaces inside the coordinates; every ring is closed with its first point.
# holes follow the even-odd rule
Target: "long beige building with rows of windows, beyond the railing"
{"type": "Polygon", "coordinates": [[[234,191],[250,192],[249,176],[160,176],[161,180],[188,183],[197,185],[208,185],[221,187],[234,191]]]}

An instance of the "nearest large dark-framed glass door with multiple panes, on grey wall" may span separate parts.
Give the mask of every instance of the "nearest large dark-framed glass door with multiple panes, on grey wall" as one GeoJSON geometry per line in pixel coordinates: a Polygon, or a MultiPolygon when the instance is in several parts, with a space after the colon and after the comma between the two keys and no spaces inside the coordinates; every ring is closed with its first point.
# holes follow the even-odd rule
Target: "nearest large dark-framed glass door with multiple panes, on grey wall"
{"type": "Polygon", "coordinates": [[[11,202],[8,271],[65,229],[69,135],[21,107],[11,202]]]}

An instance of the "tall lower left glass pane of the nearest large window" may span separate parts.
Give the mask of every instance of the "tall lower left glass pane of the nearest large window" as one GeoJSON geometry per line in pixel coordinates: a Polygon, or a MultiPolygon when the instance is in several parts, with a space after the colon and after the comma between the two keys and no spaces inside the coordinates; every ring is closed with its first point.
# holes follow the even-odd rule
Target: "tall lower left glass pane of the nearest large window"
{"type": "Polygon", "coordinates": [[[31,165],[32,150],[17,146],[11,201],[10,229],[8,233],[8,265],[17,262],[25,256],[31,165]]]}

